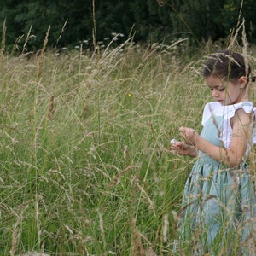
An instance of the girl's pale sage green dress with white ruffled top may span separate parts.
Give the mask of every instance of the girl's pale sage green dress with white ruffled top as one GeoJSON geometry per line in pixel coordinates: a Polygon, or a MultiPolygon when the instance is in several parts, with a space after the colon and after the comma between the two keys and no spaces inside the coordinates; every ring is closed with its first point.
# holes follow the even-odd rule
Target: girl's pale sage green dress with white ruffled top
{"type": "MultiPolygon", "coordinates": [[[[252,102],[222,106],[207,103],[202,119],[201,137],[210,143],[230,148],[230,118],[243,108],[253,112],[252,102]]],[[[248,141],[248,148],[254,143],[248,141]]],[[[256,198],[253,177],[246,161],[230,169],[199,152],[185,184],[179,246],[185,255],[256,255],[253,225],[256,198]]],[[[182,251],[180,251],[181,253],[182,251]]]]}

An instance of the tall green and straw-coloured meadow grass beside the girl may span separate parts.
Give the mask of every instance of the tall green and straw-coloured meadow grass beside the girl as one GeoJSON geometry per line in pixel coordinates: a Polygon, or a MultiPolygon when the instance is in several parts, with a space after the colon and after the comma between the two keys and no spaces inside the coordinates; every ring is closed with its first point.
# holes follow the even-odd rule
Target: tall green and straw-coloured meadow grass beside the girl
{"type": "Polygon", "coordinates": [[[172,255],[194,160],[169,141],[200,131],[215,49],[2,53],[0,254],[172,255]]]}

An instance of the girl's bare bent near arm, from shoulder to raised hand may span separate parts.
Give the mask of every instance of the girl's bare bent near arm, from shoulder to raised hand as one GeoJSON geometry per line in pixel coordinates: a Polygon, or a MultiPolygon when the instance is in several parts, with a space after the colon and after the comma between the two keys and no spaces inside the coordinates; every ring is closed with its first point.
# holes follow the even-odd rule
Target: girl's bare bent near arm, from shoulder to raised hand
{"type": "Polygon", "coordinates": [[[201,150],[218,162],[229,166],[238,166],[247,150],[251,114],[245,113],[243,109],[239,109],[236,111],[235,116],[230,119],[230,124],[233,130],[230,149],[209,143],[191,128],[181,127],[179,131],[185,142],[195,146],[197,150],[201,150]]]}

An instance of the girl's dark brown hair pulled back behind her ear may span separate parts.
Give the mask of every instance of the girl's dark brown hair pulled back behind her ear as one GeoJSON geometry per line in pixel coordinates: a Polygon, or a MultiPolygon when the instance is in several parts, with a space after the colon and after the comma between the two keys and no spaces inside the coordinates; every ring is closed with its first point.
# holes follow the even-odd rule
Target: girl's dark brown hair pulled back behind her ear
{"type": "Polygon", "coordinates": [[[219,50],[210,56],[203,69],[203,76],[205,78],[218,76],[233,82],[242,76],[255,80],[255,77],[251,77],[251,67],[246,64],[244,57],[228,49],[219,50]]]}

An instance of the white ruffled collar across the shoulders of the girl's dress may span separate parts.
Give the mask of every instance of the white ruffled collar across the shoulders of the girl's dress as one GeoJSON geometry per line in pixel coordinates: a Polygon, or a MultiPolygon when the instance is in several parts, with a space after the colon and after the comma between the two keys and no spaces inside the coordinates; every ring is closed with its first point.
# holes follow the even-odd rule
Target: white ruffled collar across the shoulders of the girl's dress
{"type": "Polygon", "coordinates": [[[253,108],[252,102],[240,102],[228,106],[222,106],[219,102],[209,102],[204,108],[202,125],[205,125],[212,115],[221,116],[223,119],[231,119],[239,109],[243,109],[245,113],[256,113],[256,108],[253,108]]]}

